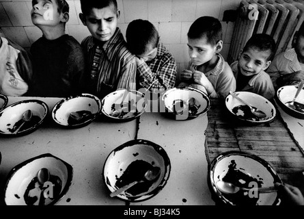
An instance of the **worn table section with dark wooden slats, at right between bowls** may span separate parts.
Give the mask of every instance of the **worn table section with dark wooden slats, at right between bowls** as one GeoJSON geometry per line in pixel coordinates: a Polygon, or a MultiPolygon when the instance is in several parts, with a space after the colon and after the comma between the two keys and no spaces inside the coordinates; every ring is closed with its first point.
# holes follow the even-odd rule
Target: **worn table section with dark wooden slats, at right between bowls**
{"type": "Polygon", "coordinates": [[[293,118],[277,107],[271,123],[248,125],[225,109],[225,102],[211,99],[206,129],[208,164],[227,151],[243,151],[266,160],[284,183],[294,185],[304,194],[304,120],[293,118]]]}

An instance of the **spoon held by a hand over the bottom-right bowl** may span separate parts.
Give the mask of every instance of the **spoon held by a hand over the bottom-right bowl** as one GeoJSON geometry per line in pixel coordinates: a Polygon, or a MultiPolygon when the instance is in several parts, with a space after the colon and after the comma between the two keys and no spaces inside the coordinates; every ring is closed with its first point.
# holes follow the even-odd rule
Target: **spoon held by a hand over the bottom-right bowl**
{"type": "Polygon", "coordinates": [[[242,188],[242,187],[238,187],[232,183],[227,183],[225,181],[217,181],[217,188],[225,194],[235,194],[236,192],[238,192],[240,190],[242,190],[242,191],[258,190],[258,192],[261,192],[261,193],[277,191],[277,189],[274,186],[264,187],[264,188],[242,188]]]}

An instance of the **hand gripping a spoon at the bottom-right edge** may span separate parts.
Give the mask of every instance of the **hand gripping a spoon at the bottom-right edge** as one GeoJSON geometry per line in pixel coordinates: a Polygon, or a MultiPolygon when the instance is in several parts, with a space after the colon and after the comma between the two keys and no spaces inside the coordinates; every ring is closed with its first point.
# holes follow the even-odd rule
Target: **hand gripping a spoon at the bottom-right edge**
{"type": "Polygon", "coordinates": [[[304,205],[304,197],[299,188],[285,183],[275,183],[275,186],[283,193],[284,198],[286,198],[286,203],[304,205]]]}

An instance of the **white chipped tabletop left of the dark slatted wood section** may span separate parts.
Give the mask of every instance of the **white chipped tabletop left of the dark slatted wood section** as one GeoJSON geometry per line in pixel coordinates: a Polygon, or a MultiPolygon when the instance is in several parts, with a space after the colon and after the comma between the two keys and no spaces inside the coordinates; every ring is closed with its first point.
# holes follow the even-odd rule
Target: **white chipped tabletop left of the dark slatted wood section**
{"type": "Polygon", "coordinates": [[[64,129],[51,120],[50,114],[61,99],[9,97],[8,105],[23,99],[40,99],[49,105],[49,120],[27,136],[0,138],[0,188],[4,187],[5,177],[14,166],[31,157],[51,153],[74,169],[72,185],[57,205],[126,205],[128,203],[109,196],[102,168],[113,149],[138,138],[165,149],[170,157],[171,173],[167,185],[156,196],[130,205],[215,205],[207,185],[206,115],[178,121],[160,113],[146,112],[141,115],[139,127],[137,120],[128,123],[94,120],[86,127],[64,129]]]}

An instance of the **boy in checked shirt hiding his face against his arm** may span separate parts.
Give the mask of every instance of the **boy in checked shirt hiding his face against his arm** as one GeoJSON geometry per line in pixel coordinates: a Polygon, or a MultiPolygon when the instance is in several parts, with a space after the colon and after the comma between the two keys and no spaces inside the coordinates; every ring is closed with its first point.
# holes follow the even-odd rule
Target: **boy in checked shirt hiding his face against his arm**
{"type": "Polygon", "coordinates": [[[128,49],[136,55],[139,88],[164,92],[176,83],[176,62],[159,41],[158,31],[149,21],[132,21],[126,29],[128,49]]]}

